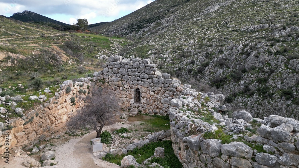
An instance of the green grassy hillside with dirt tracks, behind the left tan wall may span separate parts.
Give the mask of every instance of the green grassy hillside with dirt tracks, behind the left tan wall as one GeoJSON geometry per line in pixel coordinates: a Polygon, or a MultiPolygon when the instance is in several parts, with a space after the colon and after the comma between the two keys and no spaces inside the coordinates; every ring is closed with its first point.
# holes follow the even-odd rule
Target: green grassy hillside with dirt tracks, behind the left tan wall
{"type": "Polygon", "coordinates": [[[100,57],[131,41],[99,34],[68,33],[0,17],[0,88],[4,95],[28,95],[64,80],[91,77],[100,57]],[[41,79],[41,87],[35,87],[41,79]],[[19,87],[22,84],[24,88],[19,87]]]}

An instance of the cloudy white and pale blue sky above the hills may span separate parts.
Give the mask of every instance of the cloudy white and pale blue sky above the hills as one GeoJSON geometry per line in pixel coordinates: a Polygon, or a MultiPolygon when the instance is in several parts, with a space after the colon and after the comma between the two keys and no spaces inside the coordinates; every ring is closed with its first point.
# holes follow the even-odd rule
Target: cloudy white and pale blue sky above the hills
{"type": "Polygon", "coordinates": [[[29,10],[67,24],[87,19],[89,24],[114,21],[154,0],[0,0],[0,15],[29,10]]]}

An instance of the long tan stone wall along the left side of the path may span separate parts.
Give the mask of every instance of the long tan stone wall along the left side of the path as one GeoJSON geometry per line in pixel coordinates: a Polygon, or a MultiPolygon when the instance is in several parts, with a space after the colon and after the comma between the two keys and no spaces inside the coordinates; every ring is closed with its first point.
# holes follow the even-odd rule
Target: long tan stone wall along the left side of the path
{"type": "MultiPolygon", "coordinates": [[[[80,78],[74,83],[71,80],[64,81],[60,85],[60,91],[52,93],[53,97],[46,100],[43,105],[31,110],[22,118],[10,118],[12,129],[0,131],[0,154],[6,151],[6,147],[12,149],[15,146],[34,145],[49,138],[56,127],[63,126],[78,108],[84,106],[84,99],[89,91],[88,86],[95,85],[90,79],[80,78]],[[70,93],[65,92],[67,87],[71,88],[70,93]],[[79,93],[80,89],[86,90],[86,93],[79,93]],[[75,104],[71,103],[71,97],[75,98],[75,104]],[[6,132],[9,132],[8,145],[5,145],[6,132]]],[[[3,97],[2,99],[4,100],[3,97]]],[[[14,104],[14,102],[9,103],[14,104]]],[[[0,123],[0,130],[3,128],[4,124],[0,123]]]]}

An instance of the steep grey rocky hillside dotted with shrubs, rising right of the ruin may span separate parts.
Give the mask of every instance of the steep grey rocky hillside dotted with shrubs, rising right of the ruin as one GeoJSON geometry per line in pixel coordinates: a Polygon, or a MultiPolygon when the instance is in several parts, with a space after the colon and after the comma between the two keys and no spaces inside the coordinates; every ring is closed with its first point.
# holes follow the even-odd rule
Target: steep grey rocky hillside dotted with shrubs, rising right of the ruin
{"type": "Polygon", "coordinates": [[[92,29],[134,39],[120,54],[224,93],[232,111],[298,119],[298,21],[298,1],[156,0],[92,29]]]}

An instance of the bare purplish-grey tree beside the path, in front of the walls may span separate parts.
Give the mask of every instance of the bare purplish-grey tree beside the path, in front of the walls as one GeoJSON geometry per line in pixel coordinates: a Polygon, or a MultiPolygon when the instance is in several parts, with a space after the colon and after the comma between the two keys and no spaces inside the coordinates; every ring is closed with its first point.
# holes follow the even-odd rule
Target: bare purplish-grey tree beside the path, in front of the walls
{"type": "Polygon", "coordinates": [[[118,101],[111,90],[102,88],[93,88],[92,96],[86,100],[87,104],[70,118],[67,127],[80,129],[89,125],[100,138],[103,127],[115,123],[115,115],[120,110],[118,101]]]}

